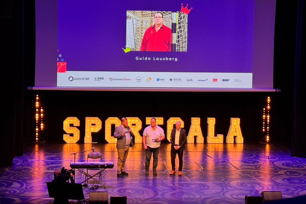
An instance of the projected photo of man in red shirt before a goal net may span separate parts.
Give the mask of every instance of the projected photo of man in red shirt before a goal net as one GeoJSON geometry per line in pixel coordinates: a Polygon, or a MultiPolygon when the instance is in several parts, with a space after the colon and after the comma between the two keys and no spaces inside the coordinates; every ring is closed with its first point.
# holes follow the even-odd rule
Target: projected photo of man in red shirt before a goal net
{"type": "Polygon", "coordinates": [[[187,17],[172,11],[126,11],[126,47],[131,51],[187,51],[187,17]]]}

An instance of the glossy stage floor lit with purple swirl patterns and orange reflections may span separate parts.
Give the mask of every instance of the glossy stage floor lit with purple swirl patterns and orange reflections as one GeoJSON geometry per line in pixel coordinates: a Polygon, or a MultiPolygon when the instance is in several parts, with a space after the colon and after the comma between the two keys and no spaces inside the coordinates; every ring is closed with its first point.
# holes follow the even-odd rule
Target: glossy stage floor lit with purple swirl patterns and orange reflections
{"type": "MultiPolygon", "coordinates": [[[[157,175],[144,174],[145,151],[142,144],[130,148],[125,163],[128,177],[117,177],[116,144],[25,144],[23,156],[14,158],[13,166],[0,169],[0,196],[3,203],[53,203],[46,181],[53,172],[70,169],[71,153],[95,147],[103,161],[114,162],[113,169],[102,173],[98,189],[110,196],[127,196],[127,203],[244,203],[245,195],[259,196],[262,191],[281,191],[283,198],[306,195],[306,158],[290,155],[277,144],[187,144],[182,176],[171,171],[170,144],[159,150],[157,175]]],[[[87,160],[84,152],[76,154],[76,162],[87,160]]],[[[176,168],[178,159],[176,159],[176,168]]],[[[75,181],[84,180],[76,172],[75,181]]],[[[76,200],[70,200],[76,202],[76,200]]],[[[111,203],[113,204],[113,203],[111,203]]]]}

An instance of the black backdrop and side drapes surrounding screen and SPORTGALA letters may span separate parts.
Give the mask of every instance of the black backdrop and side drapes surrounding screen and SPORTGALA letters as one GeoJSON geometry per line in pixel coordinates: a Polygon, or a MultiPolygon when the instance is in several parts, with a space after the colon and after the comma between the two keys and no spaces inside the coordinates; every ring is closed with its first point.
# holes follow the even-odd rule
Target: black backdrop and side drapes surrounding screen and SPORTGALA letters
{"type": "MultiPolygon", "coordinates": [[[[41,103],[45,109],[43,135],[47,142],[64,142],[62,122],[68,116],[80,119],[80,133],[83,136],[86,116],[99,117],[103,124],[107,117],[139,117],[143,121],[143,128],[146,126],[145,117],[163,117],[165,121],[169,117],[181,117],[187,131],[190,127],[190,118],[200,117],[204,137],[207,133],[207,117],[216,118],[215,133],[224,136],[229,128],[230,117],[239,117],[245,142],[259,141],[263,101],[270,95],[271,142],[305,143],[302,126],[305,124],[305,115],[300,97],[303,96],[302,90],[305,85],[300,72],[297,72],[296,78],[294,77],[295,70],[301,70],[305,56],[301,43],[303,37],[297,41],[297,34],[303,36],[301,33],[305,27],[305,21],[300,23],[304,10],[304,7],[301,7],[302,0],[276,2],[274,88],[281,89],[279,93],[29,91],[26,87],[34,86],[35,73],[35,1],[2,2],[6,4],[1,5],[0,10],[0,23],[3,28],[0,38],[4,50],[4,54],[1,55],[1,155],[6,157],[1,158],[0,165],[12,165],[13,157],[22,155],[24,140],[34,141],[36,94],[41,96],[41,103]],[[299,49],[296,50],[296,47],[299,49]],[[302,56],[300,63],[296,63],[296,55],[302,56]],[[297,87],[299,88],[294,92],[294,88],[297,87]],[[123,95],[127,100],[118,99],[118,95],[123,95]],[[75,99],[78,100],[73,102],[75,99]],[[132,110],[134,107],[138,109],[132,110]]],[[[93,141],[105,142],[103,135],[104,125],[99,133],[93,134],[93,141]]],[[[293,148],[298,148],[295,156],[306,155],[303,146],[293,145],[293,148]]],[[[294,150],[292,152],[295,153],[294,150]]]]}

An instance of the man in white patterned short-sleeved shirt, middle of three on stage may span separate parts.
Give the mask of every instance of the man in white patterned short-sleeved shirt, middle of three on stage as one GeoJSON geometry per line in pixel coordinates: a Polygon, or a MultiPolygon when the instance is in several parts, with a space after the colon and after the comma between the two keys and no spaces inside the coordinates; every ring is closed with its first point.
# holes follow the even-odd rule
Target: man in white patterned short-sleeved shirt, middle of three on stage
{"type": "Polygon", "coordinates": [[[151,118],[151,125],[144,129],[142,134],[142,143],[146,150],[145,174],[149,175],[150,160],[153,153],[153,174],[157,175],[157,162],[160,141],[165,139],[164,130],[156,125],[156,119],[151,118]]]}

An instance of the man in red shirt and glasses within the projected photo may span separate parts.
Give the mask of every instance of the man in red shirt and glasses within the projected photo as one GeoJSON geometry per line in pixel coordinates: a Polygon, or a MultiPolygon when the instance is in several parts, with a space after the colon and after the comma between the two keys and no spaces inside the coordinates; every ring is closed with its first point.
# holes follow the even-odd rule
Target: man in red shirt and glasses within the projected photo
{"type": "Polygon", "coordinates": [[[154,25],[147,28],[140,51],[171,51],[171,29],[162,24],[163,14],[154,14],[154,25]]]}

